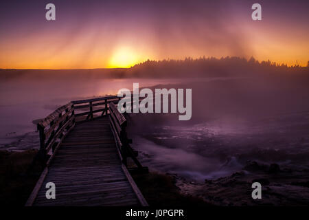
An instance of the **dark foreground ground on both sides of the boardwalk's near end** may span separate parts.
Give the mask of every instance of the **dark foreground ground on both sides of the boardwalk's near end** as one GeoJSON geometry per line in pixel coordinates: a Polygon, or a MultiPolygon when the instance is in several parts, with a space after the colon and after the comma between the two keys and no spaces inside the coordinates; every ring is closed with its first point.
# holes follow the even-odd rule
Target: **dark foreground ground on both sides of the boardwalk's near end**
{"type": "MultiPolygon", "coordinates": [[[[0,151],[0,204],[24,206],[41,173],[31,167],[36,150],[0,151]]],[[[247,162],[240,172],[198,183],[172,173],[134,174],[150,206],[308,206],[309,170],[247,162]],[[262,184],[262,199],[251,184],[262,184]]]]}

